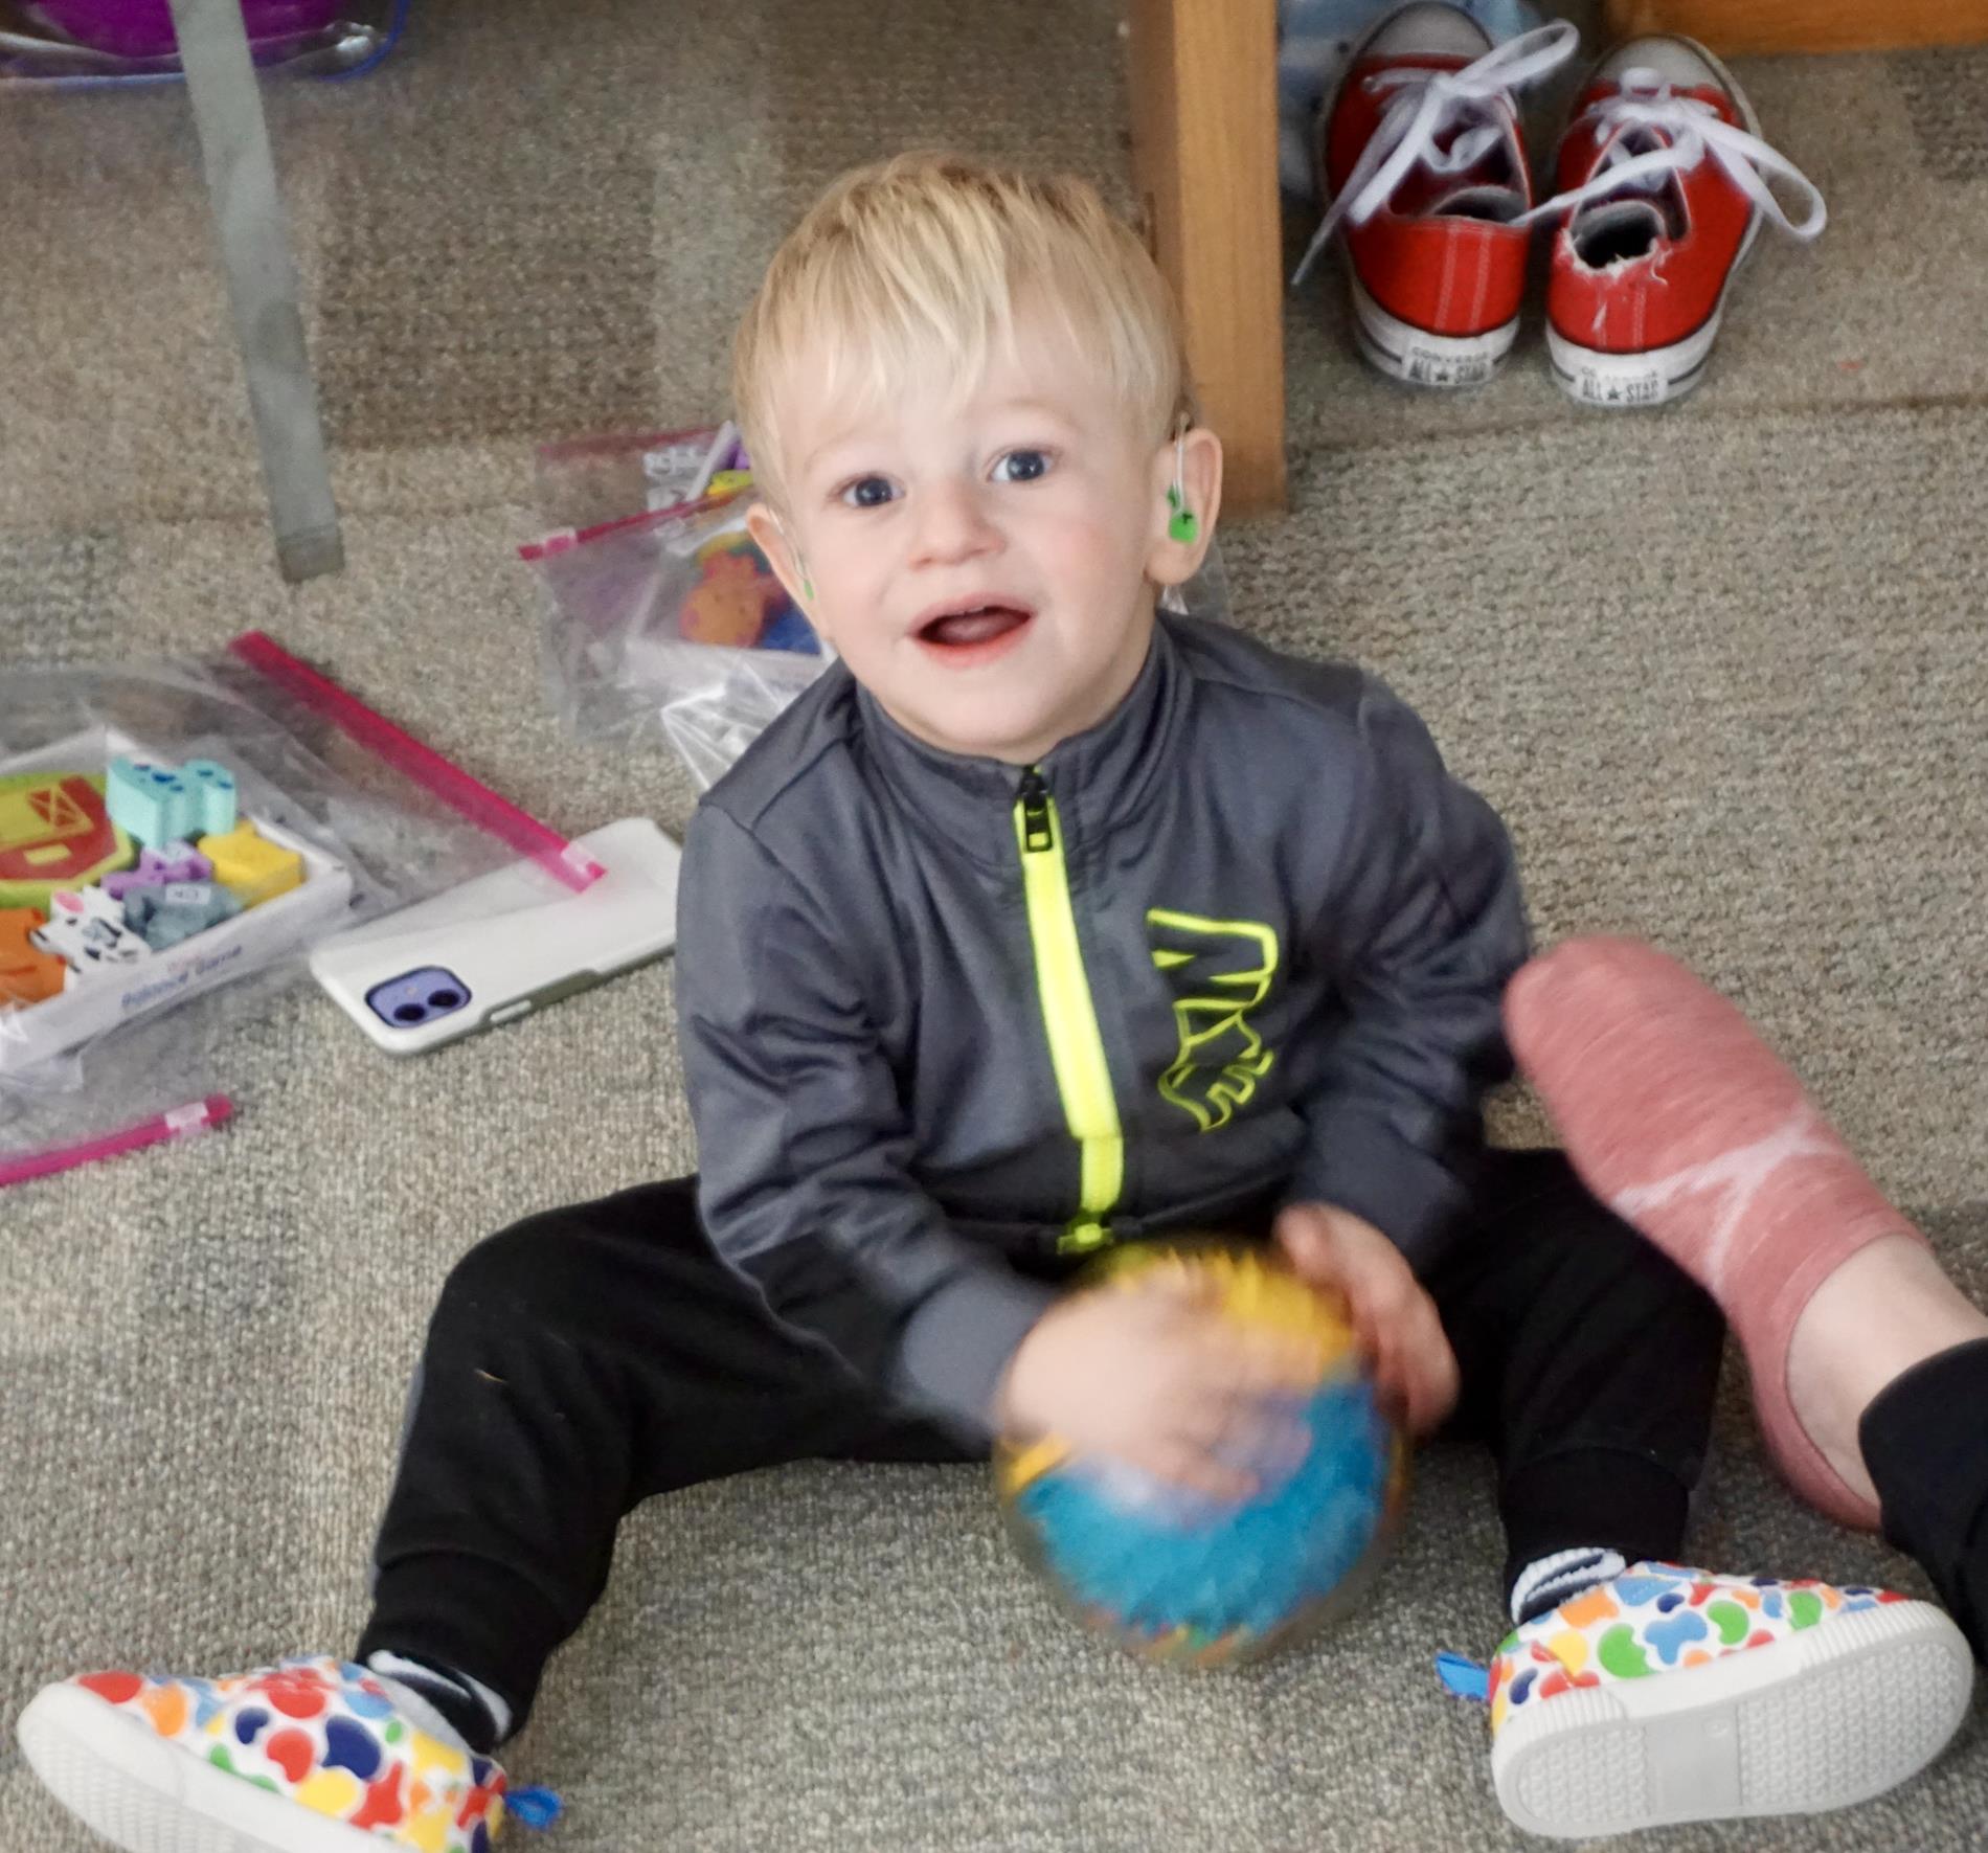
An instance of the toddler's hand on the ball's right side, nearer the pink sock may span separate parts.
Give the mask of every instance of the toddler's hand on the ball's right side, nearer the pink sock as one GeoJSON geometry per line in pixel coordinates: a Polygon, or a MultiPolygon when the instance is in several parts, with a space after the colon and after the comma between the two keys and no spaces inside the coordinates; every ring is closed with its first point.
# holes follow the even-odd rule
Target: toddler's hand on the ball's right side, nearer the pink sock
{"type": "Polygon", "coordinates": [[[1290,1264],[1314,1286],[1346,1294],[1382,1404],[1423,1435],[1457,1400],[1457,1356],[1435,1300],[1402,1251],[1350,1209],[1294,1203],[1276,1219],[1290,1264]]]}

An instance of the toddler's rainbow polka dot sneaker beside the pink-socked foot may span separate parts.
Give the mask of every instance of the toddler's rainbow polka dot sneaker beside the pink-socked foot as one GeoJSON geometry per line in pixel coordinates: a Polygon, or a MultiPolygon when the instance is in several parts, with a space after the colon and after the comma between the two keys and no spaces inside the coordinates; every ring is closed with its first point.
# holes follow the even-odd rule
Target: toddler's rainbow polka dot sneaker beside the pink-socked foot
{"type": "Polygon", "coordinates": [[[1491,1779],[1513,1821],[1567,1839],[1817,1813],[1930,1764],[1972,1686],[1930,1602],[1636,1563],[1499,1646],[1491,1779]]]}

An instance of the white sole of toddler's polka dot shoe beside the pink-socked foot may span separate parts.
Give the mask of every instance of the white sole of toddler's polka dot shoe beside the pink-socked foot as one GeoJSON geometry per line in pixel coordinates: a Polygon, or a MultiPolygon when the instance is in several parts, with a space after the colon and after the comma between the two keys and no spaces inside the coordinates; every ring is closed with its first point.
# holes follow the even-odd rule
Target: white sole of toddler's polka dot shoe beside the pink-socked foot
{"type": "Polygon", "coordinates": [[[1519,1827],[1557,1839],[1817,1813],[1930,1764],[1972,1688],[1974,1656],[1942,1610],[1885,1602],[1710,1666],[1525,1706],[1491,1746],[1491,1781],[1519,1827]]]}

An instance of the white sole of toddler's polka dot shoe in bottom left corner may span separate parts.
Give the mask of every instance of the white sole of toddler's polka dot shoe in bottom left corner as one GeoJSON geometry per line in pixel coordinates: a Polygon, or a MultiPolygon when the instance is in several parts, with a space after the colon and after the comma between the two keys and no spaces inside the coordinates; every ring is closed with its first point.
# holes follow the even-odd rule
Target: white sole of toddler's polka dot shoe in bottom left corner
{"type": "Polygon", "coordinates": [[[14,1734],[44,1787],[123,1853],[380,1853],[386,1845],[217,1769],[83,1686],[44,1686],[14,1734]]]}

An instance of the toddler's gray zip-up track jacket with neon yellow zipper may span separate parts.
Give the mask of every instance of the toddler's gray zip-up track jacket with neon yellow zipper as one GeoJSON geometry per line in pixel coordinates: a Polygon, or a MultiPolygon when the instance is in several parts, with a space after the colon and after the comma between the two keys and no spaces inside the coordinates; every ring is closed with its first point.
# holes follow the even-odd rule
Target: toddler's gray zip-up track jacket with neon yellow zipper
{"type": "Polygon", "coordinates": [[[1523,956],[1503,827],[1358,670],[1163,616],[1016,769],[837,666],[690,825],[704,1221],[775,1318],[984,1433],[1054,1294],[1012,1261],[1304,1199],[1425,1266],[1523,956]]]}

